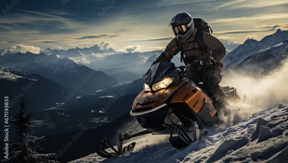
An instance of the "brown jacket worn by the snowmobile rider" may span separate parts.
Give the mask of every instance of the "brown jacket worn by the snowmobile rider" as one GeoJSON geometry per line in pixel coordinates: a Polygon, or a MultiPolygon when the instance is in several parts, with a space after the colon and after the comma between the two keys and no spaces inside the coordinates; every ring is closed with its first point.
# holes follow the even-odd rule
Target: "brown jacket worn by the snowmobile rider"
{"type": "MultiPolygon", "coordinates": [[[[200,51],[198,49],[193,50],[194,48],[199,48],[198,43],[195,41],[194,36],[196,34],[197,29],[195,28],[192,36],[188,38],[183,44],[185,58],[186,57],[196,57],[197,61],[203,60],[204,57],[208,57],[209,54],[205,53],[204,51],[200,51]]],[[[216,62],[221,62],[226,54],[226,49],[224,45],[219,41],[216,37],[212,36],[211,34],[204,32],[203,40],[206,47],[210,50],[210,54],[214,55],[216,58],[216,62]]],[[[175,37],[166,47],[164,52],[162,52],[156,61],[159,62],[171,62],[174,55],[179,53],[179,49],[177,47],[177,38],[175,37]]],[[[199,67],[198,70],[201,68],[199,67]]]]}

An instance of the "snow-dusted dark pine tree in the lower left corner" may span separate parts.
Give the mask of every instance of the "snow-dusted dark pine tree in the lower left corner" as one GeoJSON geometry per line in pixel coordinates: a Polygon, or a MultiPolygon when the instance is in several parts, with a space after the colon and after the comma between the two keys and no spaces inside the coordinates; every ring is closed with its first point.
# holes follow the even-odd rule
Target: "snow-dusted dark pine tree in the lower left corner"
{"type": "Polygon", "coordinates": [[[23,99],[20,101],[20,111],[15,113],[10,123],[16,127],[16,143],[12,143],[9,146],[9,158],[3,160],[7,163],[56,163],[58,161],[50,160],[54,158],[56,154],[39,154],[36,150],[42,149],[40,142],[44,140],[44,137],[35,137],[29,135],[29,131],[33,130],[34,126],[31,124],[34,122],[32,119],[32,113],[25,113],[26,103],[23,99]]]}

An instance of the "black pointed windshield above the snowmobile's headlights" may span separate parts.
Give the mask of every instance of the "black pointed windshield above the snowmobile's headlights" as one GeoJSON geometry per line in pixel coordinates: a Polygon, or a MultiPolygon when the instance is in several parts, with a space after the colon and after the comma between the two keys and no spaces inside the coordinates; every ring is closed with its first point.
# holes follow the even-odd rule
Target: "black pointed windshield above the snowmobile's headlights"
{"type": "Polygon", "coordinates": [[[175,76],[175,73],[179,72],[175,68],[175,64],[172,62],[158,62],[153,64],[148,72],[142,76],[142,79],[147,85],[154,85],[166,78],[175,76]]]}

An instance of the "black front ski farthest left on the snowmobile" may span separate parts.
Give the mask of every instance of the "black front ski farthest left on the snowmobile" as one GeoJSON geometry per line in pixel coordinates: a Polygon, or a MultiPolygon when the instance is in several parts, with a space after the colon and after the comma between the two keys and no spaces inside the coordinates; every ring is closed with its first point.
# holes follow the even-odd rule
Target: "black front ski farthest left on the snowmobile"
{"type": "Polygon", "coordinates": [[[133,142],[122,149],[123,152],[118,152],[106,138],[100,138],[97,144],[96,153],[104,158],[120,157],[123,154],[133,151],[136,143],[133,142]],[[102,145],[102,146],[101,146],[102,145]],[[112,150],[113,152],[108,152],[107,150],[112,150]]]}

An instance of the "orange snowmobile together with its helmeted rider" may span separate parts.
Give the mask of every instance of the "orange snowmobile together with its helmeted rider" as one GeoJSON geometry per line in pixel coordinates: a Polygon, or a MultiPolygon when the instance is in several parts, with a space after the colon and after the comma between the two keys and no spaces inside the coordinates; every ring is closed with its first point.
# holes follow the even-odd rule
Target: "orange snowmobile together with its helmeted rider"
{"type": "Polygon", "coordinates": [[[96,147],[99,156],[120,157],[132,151],[136,144],[123,146],[123,141],[149,133],[170,134],[173,147],[187,147],[208,134],[207,131],[200,134],[200,130],[221,122],[221,110],[229,115],[227,98],[240,99],[234,87],[222,87],[225,94],[219,87],[221,60],[226,49],[211,35],[212,30],[211,34],[207,33],[208,24],[200,18],[193,20],[187,13],[179,13],[170,25],[176,37],[142,76],[143,90],[132,104],[130,115],[136,122],[124,134],[117,134],[117,149],[106,138],[100,138],[96,147]],[[186,66],[176,67],[171,63],[179,51],[186,66]],[[138,126],[145,130],[133,134],[138,126]]]}

